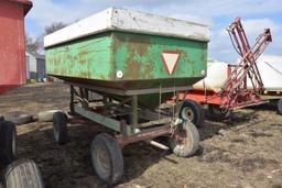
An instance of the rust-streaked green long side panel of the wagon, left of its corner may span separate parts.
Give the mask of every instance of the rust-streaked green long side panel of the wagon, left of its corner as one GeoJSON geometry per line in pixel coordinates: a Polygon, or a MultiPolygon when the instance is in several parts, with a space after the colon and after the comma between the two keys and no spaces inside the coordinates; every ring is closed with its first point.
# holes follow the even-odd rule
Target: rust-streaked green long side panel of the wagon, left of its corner
{"type": "Polygon", "coordinates": [[[106,33],[46,48],[46,71],[54,76],[111,80],[111,34],[106,33]]]}

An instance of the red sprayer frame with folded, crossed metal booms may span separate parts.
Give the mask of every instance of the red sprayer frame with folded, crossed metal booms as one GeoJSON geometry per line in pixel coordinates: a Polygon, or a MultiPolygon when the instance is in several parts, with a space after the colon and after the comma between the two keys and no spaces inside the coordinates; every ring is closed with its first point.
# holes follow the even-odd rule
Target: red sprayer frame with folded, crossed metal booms
{"type": "MultiPolygon", "coordinates": [[[[240,18],[236,18],[227,29],[236,52],[241,56],[236,65],[227,66],[227,79],[218,91],[206,88],[181,92],[180,99],[189,99],[202,104],[208,104],[212,115],[226,118],[230,110],[264,103],[260,97],[263,82],[257,67],[257,59],[272,41],[269,29],[260,34],[250,46],[240,18]],[[247,88],[247,79],[251,88],[247,88]]],[[[208,74],[208,73],[207,73],[208,74]]]]}

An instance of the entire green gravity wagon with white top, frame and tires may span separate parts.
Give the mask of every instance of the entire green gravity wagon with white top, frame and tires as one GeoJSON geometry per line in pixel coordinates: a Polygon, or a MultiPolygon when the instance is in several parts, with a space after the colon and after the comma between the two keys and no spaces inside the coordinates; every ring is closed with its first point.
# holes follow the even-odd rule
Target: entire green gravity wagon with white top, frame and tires
{"type": "Polygon", "coordinates": [[[178,118],[183,100],[165,101],[206,76],[208,41],[206,25],[116,8],[45,36],[48,75],[70,86],[72,118],[54,113],[55,141],[67,142],[67,123],[102,125],[90,153],[107,184],[121,178],[127,144],[166,147],[153,139],[167,136],[174,154],[193,155],[199,135],[178,118]]]}

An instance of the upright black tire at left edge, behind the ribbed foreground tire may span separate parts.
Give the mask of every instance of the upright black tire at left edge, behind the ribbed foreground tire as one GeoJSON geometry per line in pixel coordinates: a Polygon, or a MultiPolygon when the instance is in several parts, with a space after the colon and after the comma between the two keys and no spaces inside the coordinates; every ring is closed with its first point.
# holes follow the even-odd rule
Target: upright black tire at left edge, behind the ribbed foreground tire
{"type": "Polygon", "coordinates": [[[17,157],[17,129],[13,122],[0,122],[0,163],[8,165],[17,157]]]}

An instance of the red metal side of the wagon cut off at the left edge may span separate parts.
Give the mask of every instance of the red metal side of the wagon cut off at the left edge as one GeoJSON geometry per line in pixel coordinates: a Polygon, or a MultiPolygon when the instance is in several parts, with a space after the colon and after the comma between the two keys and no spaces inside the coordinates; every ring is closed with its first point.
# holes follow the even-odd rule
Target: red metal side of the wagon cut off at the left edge
{"type": "Polygon", "coordinates": [[[0,93],[25,82],[25,5],[0,1],[0,93]]]}

